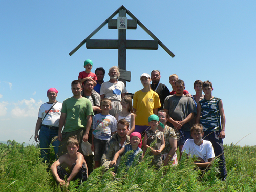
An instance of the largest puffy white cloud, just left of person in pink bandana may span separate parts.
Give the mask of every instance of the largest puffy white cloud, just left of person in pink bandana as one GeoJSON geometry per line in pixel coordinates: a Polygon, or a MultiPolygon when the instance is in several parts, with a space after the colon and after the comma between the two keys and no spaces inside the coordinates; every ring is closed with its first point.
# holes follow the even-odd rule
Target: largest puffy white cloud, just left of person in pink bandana
{"type": "Polygon", "coordinates": [[[22,117],[37,117],[38,110],[42,104],[42,101],[39,100],[36,102],[33,98],[30,100],[23,99],[16,103],[15,108],[12,109],[11,114],[14,118],[22,118],[22,117]]]}

